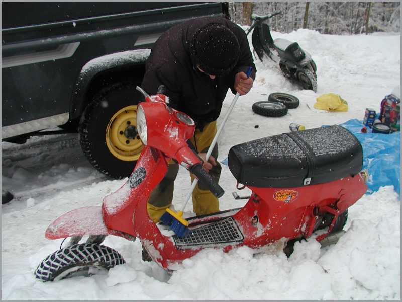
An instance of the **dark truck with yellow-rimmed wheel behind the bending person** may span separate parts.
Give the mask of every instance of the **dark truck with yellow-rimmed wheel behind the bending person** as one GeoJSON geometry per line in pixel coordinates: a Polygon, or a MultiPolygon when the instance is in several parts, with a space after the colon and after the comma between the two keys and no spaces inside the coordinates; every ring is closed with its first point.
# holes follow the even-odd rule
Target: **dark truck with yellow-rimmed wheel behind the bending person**
{"type": "Polygon", "coordinates": [[[129,176],[143,148],[135,87],[153,43],[211,15],[229,18],[227,3],[3,2],[2,141],[75,131],[93,167],[129,176]]]}

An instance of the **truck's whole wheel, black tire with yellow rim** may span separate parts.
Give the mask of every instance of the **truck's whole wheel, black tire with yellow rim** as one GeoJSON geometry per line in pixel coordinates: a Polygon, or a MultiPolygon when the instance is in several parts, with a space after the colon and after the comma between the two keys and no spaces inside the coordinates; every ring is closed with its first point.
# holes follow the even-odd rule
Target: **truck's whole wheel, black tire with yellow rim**
{"type": "Polygon", "coordinates": [[[133,83],[115,83],[94,95],[79,124],[86,158],[100,172],[121,179],[130,176],[143,144],[137,133],[137,104],[143,97],[133,83]]]}

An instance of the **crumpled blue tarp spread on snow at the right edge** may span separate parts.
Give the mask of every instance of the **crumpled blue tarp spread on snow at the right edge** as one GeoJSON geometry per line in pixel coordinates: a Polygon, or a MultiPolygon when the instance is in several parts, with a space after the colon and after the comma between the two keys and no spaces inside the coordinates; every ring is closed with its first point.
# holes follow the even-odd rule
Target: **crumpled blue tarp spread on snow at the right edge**
{"type": "Polygon", "coordinates": [[[400,132],[372,133],[367,127],[367,133],[362,133],[363,123],[357,119],[340,125],[352,132],[363,147],[363,169],[369,174],[367,193],[393,185],[400,195],[400,132]]]}

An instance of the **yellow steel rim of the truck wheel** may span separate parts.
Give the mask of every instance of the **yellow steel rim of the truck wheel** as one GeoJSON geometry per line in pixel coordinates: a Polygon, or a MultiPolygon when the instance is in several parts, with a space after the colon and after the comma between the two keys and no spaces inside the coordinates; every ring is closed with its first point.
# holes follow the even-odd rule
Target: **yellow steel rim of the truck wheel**
{"type": "Polygon", "coordinates": [[[137,105],[124,107],[113,115],[105,139],[114,157],[126,162],[138,160],[144,145],[137,132],[137,105]]]}

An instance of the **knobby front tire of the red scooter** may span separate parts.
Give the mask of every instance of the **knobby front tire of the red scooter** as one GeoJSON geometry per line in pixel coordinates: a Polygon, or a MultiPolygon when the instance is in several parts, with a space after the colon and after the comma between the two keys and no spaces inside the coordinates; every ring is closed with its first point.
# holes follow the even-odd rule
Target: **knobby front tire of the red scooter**
{"type": "Polygon", "coordinates": [[[35,270],[35,277],[43,282],[90,276],[90,268],[109,270],[124,264],[123,257],[114,249],[93,243],[75,244],[47,256],[35,270]]]}

